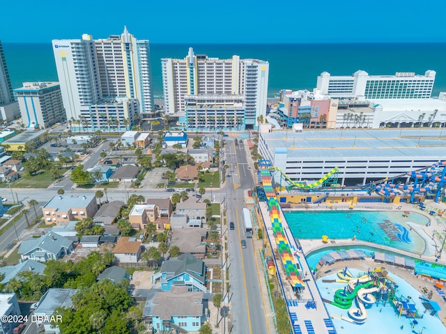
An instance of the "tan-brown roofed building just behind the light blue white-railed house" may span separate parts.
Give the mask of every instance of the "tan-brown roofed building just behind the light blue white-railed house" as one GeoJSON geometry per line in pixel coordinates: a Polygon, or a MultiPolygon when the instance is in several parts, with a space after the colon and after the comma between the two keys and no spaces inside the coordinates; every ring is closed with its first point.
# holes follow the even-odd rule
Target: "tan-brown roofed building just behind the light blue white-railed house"
{"type": "Polygon", "coordinates": [[[178,246],[181,253],[203,258],[206,255],[206,228],[176,228],[172,230],[170,246],[178,246]]]}

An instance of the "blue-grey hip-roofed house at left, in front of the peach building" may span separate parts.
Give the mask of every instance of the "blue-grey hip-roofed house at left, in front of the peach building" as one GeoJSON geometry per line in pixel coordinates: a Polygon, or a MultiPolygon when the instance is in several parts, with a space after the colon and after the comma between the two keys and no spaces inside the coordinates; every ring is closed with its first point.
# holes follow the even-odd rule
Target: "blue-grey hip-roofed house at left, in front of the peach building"
{"type": "Polygon", "coordinates": [[[46,262],[70,254],[73,250],[72,244],[72,240],[49,232],[40,238],[22,241],[18,253],[22,260],[31,259],[46,262]]]}

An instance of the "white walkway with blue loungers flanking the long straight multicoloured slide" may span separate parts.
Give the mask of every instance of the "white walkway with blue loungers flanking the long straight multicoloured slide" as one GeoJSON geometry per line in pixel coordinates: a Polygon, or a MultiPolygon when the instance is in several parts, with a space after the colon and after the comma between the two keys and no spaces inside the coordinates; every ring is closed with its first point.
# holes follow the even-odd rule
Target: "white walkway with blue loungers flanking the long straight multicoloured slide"
{"type": "MultiPolygon", "coordinates": [[[[268,206],[266,202],[259,202],[259,209],[263,217],[263,222],[266,225],[266,232],[268,233],[268,239],[272,246],[272,253],[277,254],[277,244],[275,243],[275,237],[272,232],[272,224],[270,221],[270,214],[268,212],[268,206]]],[[[286,219],[280,210],[282,218],[282,226],[288,239],[291,249],[298,249],[298,245],[289,230],[289,226],[286,223],[286,219]]],[[[296,296],[291,285],[287,282],[286,273],[282,265],[280,258],[277,259],[277,273],[282,282],[282,288],[284,292],[284,298],[290,315],[292,315],[291,326],[293,327],[293,333],[299,333],[294,328],[300,327],[300,333],[329,333],[324,319],[330,319],[327,309],[323,303],[321,294],[316,286],[316,280],[312,275],[307,261],[303,257],[302,253],[295,252],[295,262],[299,264],[299,271],[302,273],[305,282],[305,289],[302,289],[299,296],[296,296]],[[313,302],[316,308],[307,308],[305,305],[307,302],[313,302]],[[311,322],[309,322],[311,321],[311,322]],[[307,328],[307,324],[312,324],[314,332],[311,332],[307,328]]]]}

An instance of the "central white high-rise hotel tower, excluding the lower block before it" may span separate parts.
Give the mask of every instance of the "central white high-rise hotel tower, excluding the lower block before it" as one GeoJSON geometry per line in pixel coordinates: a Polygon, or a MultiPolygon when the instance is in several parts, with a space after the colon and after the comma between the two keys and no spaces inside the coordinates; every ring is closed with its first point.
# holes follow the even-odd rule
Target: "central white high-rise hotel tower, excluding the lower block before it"
{"type": "Polygon", "coordinates": [[[163,58],[161,63],[166,113],[184,114],[187,109],[185,95],[243,95],[245,125],[257,127],[257,118],[265,118],[267,61],[240,59],[240,56],[209,58],[195,55],[191,47],[186,58],[163,58]]]}

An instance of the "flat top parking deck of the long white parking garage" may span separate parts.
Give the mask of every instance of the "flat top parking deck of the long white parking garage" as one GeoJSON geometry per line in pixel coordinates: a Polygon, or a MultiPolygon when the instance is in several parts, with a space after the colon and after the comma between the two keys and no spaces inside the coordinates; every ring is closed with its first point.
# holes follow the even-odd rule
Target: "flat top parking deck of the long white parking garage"
{"type": "MultiPolygon", "coordinates": [[[[268,150],[296,159],[429,157],[443,159],[442,129],[314,129],[263,133],[268,150]]],[[[261,140],[259,140],[260,142],[261,140]]],[[[180,204],[180,203],[178,203],[180,204]]]]}

